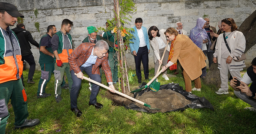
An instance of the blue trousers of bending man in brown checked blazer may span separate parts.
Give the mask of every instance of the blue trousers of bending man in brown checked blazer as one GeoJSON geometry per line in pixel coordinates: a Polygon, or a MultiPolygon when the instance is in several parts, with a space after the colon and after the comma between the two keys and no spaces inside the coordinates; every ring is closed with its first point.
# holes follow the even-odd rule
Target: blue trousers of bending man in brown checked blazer
{"type": "MultiPolygon", "coordinates": [[[[80,67],[80,70],[83,72],[85,71],[85,73],[92,79],[95,80],[97,82],[101,82],[101,78],[99,74],[92,74],[92,66],[89,67],[80,67]]],[[[77,108],[77,96],[81,87],[81,82],[82,79],[77,78],[75,75],[74,70],[70,71],[71,73],[71,78],[73,80],[73,85],[71,87],[71,91],[70,91],[70,106],[71,108],[77,108]]],[[[97,102],[97,95],[100,91],[100,86],[91,83],[92,84],[92,92],[90,95],[90,101],[89,103],[94,104],[97,102]]]]}

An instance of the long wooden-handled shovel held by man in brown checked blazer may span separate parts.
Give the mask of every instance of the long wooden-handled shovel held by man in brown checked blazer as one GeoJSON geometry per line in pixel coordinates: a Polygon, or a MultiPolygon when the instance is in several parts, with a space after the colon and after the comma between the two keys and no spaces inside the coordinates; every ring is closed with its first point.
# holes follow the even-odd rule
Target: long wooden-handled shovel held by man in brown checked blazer
{"type": "MultiPolygon", "coordinates": [[[[76,75],[76,73],[75,73],[75,75],[76,75]]],[[[101,84],[101,83],[99,83],[99,82],[97,82],[97,81],[95,81],[95,80],[89,79],[89,78],[87,78],[87,77],[85,77],[85,76],[84,76],[84,79],[86,79],[86,80],[88,80],[88,81],[90,81],[90,82],[92,82],[92,83],[95,83],[95,84],[97,84],[97,85],[99,85],[99,86],[101,86],[101,87],[103,87],[103,88],[106,88],[106,89],[108,89],[108,90],[112,90],[112,88],[110,88],[110,87],[108,87],[108,86],[105,86],[105,85],[103,85],[103,84],[101,84]]],[[[137,103],[139,103],[139,104],[141,104],[141,105],[143,105],[143,106],[146,106],[146,107],[148,107],[149,109],[152,109],[152,110],[159,110],[159,108],[151,108],[150,105],[148,105],[148,104],[146,104],[146,103],[144,103],[144,102],[142,102],[142,101],[140,101],[140,100],[134,99],[134,98],[132,98],[131,96],[128,96],[128,95],[126,95],[126,94],[124,94],[124,93],[118,92],[118,91],[116,91],[116,90],[115,90],[115,93],[117,93],[117,94],[119,94],[119,95],[122,95],[122,96],[124,96],[125,98],[128,98],[128,99],[130,99],[130,100],[133,100],[133,101],[135,101],[135,102],[137,102],[137,103]]]]}

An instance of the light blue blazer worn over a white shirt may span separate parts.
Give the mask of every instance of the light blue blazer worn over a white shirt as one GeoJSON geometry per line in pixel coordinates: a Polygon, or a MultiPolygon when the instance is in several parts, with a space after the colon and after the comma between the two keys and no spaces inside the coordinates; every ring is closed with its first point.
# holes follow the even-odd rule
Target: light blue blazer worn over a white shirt
{"type": "MultiPolygon", "coordinates": [[[[134,29],[134,31],[131,31],[130,33],[132,33],[134,37],[130,40],[133,43],[130,43],[129,46],[130,46],[131,52],[135,50],[137,53],[140,46],[140,38],[137,32],[136,26],[133,26],[132,28],[134,29]]],[[[141,26],[141,28],[144,34],[144,38],[145,38],[145,42],[147,44],[148,50],[150,50],[147,28],[144,26],[141,26]]]]}

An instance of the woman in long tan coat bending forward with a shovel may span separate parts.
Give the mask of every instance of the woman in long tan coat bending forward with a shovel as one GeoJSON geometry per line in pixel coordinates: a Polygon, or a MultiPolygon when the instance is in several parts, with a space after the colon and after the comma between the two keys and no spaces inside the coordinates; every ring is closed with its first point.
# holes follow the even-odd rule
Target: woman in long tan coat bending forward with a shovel
{"type": "Polygon", "coordinates": [[[168,67],[173,65],[179,59],[182,66],[183,76],[185,81],[185,88],[187,92],[201,91],[202,68],[206,66],[206,57],[203,51],[198,48],[188,36],[179,34],[178,31],[172,27],[168,28],[165,32],[167,43],[172,41],[173,56],[172,59],[162,68],[164,72],[168,67]],[[191,87],[191,80],[194,80],[195,88],[191,87]]]}

